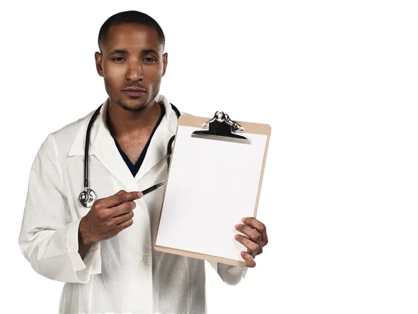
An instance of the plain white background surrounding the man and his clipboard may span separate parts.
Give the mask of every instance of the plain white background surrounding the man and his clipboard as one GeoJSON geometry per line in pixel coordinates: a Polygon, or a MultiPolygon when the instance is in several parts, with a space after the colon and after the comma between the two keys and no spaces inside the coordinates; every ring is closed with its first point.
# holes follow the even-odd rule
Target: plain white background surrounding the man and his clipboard
{"type": "Polygon", "coordinates": [[[1,3],[2,313],[58,311],[17,244],[29,169],[107,97],[98,31],[130,9],[165,32],[180,110],[272,126],[270,243],[237,286],[207,269],[209,313],[418,313],[415,1],[1,3]]]}

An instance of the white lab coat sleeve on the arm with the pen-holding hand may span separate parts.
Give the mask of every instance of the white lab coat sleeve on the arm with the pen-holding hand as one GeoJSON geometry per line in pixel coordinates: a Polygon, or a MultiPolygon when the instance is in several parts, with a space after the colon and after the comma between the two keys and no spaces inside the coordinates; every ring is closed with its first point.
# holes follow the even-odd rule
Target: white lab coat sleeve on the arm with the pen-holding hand
{"type": "Polygon", "coordinates": [[[29,174],[19,246],[38,274],[56,281],[87,283],[100,274],[100,242],[78,253],[79,218],[70,214],[53,135],[42,143],[29,174]]]}

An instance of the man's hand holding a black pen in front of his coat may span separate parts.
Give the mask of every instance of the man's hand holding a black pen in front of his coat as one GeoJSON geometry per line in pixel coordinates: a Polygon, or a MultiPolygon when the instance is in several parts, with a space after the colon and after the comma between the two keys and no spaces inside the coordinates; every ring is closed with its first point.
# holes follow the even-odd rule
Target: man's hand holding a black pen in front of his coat
{"type": "Polygon", "coordinates": [[[79,254],[82,258],[96,242],[110,239],[132,225],[136,207],[134,200],[140,197],[141,192],[120,190],[94,202],[79,225],[79,254]]]}

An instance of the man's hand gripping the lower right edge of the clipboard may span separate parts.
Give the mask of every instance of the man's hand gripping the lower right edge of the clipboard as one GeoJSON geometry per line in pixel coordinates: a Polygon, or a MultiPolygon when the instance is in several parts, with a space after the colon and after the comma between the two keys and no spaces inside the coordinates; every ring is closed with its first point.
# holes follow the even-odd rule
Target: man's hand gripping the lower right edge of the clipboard
{"type": "Polygon", "coordinates": [[[241,252],[246,266],[255,267],[256,262],[254,261],[254,257],[263,253],[263,247],[268,244],[267,231],[265,230],[265,225],[256,218],[242,218],[242,222],[245,224],[235,225],[235,229],[247,235],[247,237],[237,234],[235,235],[235,240],[248,248],[247,252],[241,252]]]}

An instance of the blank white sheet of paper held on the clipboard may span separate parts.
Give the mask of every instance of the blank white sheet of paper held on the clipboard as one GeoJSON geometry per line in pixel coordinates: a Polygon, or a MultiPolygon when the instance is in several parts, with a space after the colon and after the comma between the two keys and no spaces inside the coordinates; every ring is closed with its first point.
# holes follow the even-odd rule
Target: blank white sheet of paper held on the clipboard
{"type": "Polygon", "coordinates": [[[242,261],[235,225],[254,215],[267,135],[242,144],[195,130],[178,127],[156,245],[242,261]]]}

